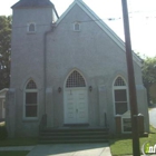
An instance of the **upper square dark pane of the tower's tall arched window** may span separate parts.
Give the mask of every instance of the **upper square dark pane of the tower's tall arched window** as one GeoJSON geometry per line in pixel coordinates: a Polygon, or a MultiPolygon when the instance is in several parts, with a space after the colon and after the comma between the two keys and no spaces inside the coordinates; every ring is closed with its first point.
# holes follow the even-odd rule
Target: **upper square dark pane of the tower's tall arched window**
{"type": "Polygon", "coordinates": [[[37,92],[26,92],[26,105],[37,104],[37,92]]]}

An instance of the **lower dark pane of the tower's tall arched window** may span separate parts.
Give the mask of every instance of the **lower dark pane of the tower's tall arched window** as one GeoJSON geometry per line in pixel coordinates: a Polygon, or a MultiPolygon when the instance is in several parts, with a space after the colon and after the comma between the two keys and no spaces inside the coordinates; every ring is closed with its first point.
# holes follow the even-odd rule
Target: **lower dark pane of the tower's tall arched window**
{"type": "Polygon", "coordinates": [[[37,106],[26,106],[26,117],[37,117],[37,106]]]}

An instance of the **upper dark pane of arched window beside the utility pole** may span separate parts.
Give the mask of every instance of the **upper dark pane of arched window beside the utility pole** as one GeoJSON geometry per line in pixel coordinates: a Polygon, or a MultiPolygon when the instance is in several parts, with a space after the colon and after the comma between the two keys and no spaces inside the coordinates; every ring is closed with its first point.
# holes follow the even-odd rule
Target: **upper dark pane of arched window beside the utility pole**
{"type": "Polygon", "coordinates": [[[115,101],[127,101],[126,89],[115,90],[115,101]]]}

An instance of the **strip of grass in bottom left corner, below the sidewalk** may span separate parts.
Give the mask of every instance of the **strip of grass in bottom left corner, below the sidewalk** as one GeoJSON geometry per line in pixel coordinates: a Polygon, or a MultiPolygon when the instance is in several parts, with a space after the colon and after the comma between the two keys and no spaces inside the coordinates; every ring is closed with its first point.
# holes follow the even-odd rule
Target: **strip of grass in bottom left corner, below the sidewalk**
{"type": "Polygon", "coordinates": [[[0,156],[26,156],[29,152],[0,152],[0,156]]]}

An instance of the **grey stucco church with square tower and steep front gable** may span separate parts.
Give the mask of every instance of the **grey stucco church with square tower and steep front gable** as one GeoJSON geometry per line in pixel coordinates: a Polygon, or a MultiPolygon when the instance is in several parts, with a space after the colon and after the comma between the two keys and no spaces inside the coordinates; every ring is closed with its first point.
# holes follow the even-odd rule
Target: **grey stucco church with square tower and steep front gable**
{"type": "MultiPolygon", "coordinates": [[[[116,116],[130,107],[123,40],[82,0],[60,18],[49,0],[20,0],[12,9],[10,136],[37,136],[43,117],[51,128],[108,125],[116,133],[116,116]]],[[[148,131],[142,60],[133,58],[138,110],[148,131]]]]}

